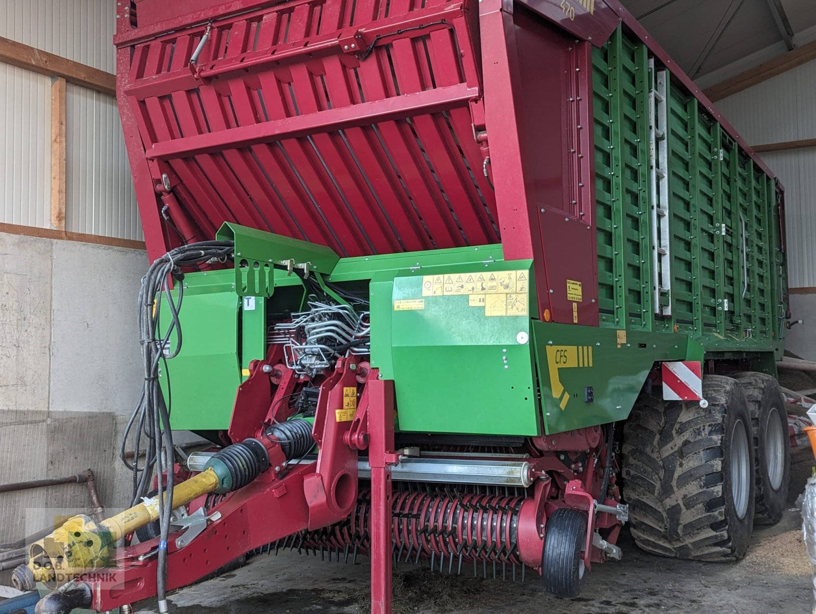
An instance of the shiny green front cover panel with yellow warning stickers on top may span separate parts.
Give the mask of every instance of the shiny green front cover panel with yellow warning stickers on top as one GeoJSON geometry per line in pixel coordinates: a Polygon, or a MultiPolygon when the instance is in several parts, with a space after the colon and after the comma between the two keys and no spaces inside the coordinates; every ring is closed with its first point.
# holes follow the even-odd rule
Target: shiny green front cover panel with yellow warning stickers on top
{"type": "Polygon", "coordinates": [[[394,278],[388,305],[372,303],[372,339],[383,320],[391,320],[400,431],[536,435],[530,263],[491,262],[418,273],[424,275],[394,278]],[[528,282],[521,293],[512,291],[521,289],[515,287],[518,271],[528,282]],[[509,294],[476,294],[478,289],[471,294],[480,276],[513,277],[513,287],[509,294]],[[463,294],[445,295],[442,288],[463,294]],[[479,299],[473,297],[486,298],[487,304],[475,304],[479,299]],[[389,313],[375,316],[379,308],[389,313]],[[519,315],[504,315],[508,310],[519,315]]]}

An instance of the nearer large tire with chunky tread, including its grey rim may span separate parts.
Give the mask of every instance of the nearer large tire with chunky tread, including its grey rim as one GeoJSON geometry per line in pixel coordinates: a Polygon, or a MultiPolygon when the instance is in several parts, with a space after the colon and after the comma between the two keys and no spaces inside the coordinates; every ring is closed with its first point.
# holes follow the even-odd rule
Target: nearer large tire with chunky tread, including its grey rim
{"type": "Polygon", "coordinates": [[[733,378],[707,375],[703,398],[706,409],[641,395],[623,430],[623,496],[642,550],[738,560],[754,516],[751,415],[733,378]]]}

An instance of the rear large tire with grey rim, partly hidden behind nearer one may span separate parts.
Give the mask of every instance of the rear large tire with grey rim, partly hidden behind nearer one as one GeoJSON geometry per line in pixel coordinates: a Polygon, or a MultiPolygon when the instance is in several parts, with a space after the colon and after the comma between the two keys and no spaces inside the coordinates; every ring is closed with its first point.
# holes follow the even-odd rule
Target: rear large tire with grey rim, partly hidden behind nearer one
{"type": "Polygon", "coordinates": [[[755,524],[776,524],[782,519],[791,478],[791,439],[787,412],[776,378],[765,373],[739,373],[756,450],[755,524]]]}

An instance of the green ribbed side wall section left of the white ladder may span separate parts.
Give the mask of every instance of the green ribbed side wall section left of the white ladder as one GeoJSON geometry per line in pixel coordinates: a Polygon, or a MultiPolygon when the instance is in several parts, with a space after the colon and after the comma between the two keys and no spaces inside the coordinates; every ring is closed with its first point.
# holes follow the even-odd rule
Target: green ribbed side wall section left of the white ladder
{"type": "Polygon", "coordinates": [[[601,325],[650,329],[646,48],[618,30],[592,65],[601,325]]]}

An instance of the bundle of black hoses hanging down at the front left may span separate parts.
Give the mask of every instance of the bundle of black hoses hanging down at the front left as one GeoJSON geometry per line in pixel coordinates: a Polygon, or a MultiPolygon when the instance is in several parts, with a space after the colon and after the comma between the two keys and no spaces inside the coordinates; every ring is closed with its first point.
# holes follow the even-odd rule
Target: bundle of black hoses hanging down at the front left
{"type": "Polygon", "coordinates": [[[177,356],[181,349],[181,326],[179,311],[184,298],[183,269],[195,268],[206,263],[225,263],[233,257],[233,241],[202,241],[182,245],[157,258],[142,278],[139,291],[139,342],[144,364],[144,387],[139,402],[122,435],[120,457],[133,472],[133,497],[135,506],[145,497],[151,487],[153,475],[158,475],[158,506],[161,527],[157,561],[157,598],[159,612],[167,612],[166,563],[167,535],[170,532],[172,506],[166,505],[173,498],[173,435],[170,413],[158,383],[159,362],[177,356]],[[170,278],[178,280],[178,298],[174,300],[170,290],[170,278]],[[162,300],[170,310],[170,323],[164,334],[159,330],[162,300]],[[172,341],[172,343],[171,343],[172,341]],[[173,348],[172,351],[170,348],[173,348]],[[125,457],[126,440],[136,425],[135,456],[133,464],[125,457]],[[142,438],[147,440],[144,466],[139,466],[142,438]],[[166,471],[166,484],[162,474],[166,471]]]}

